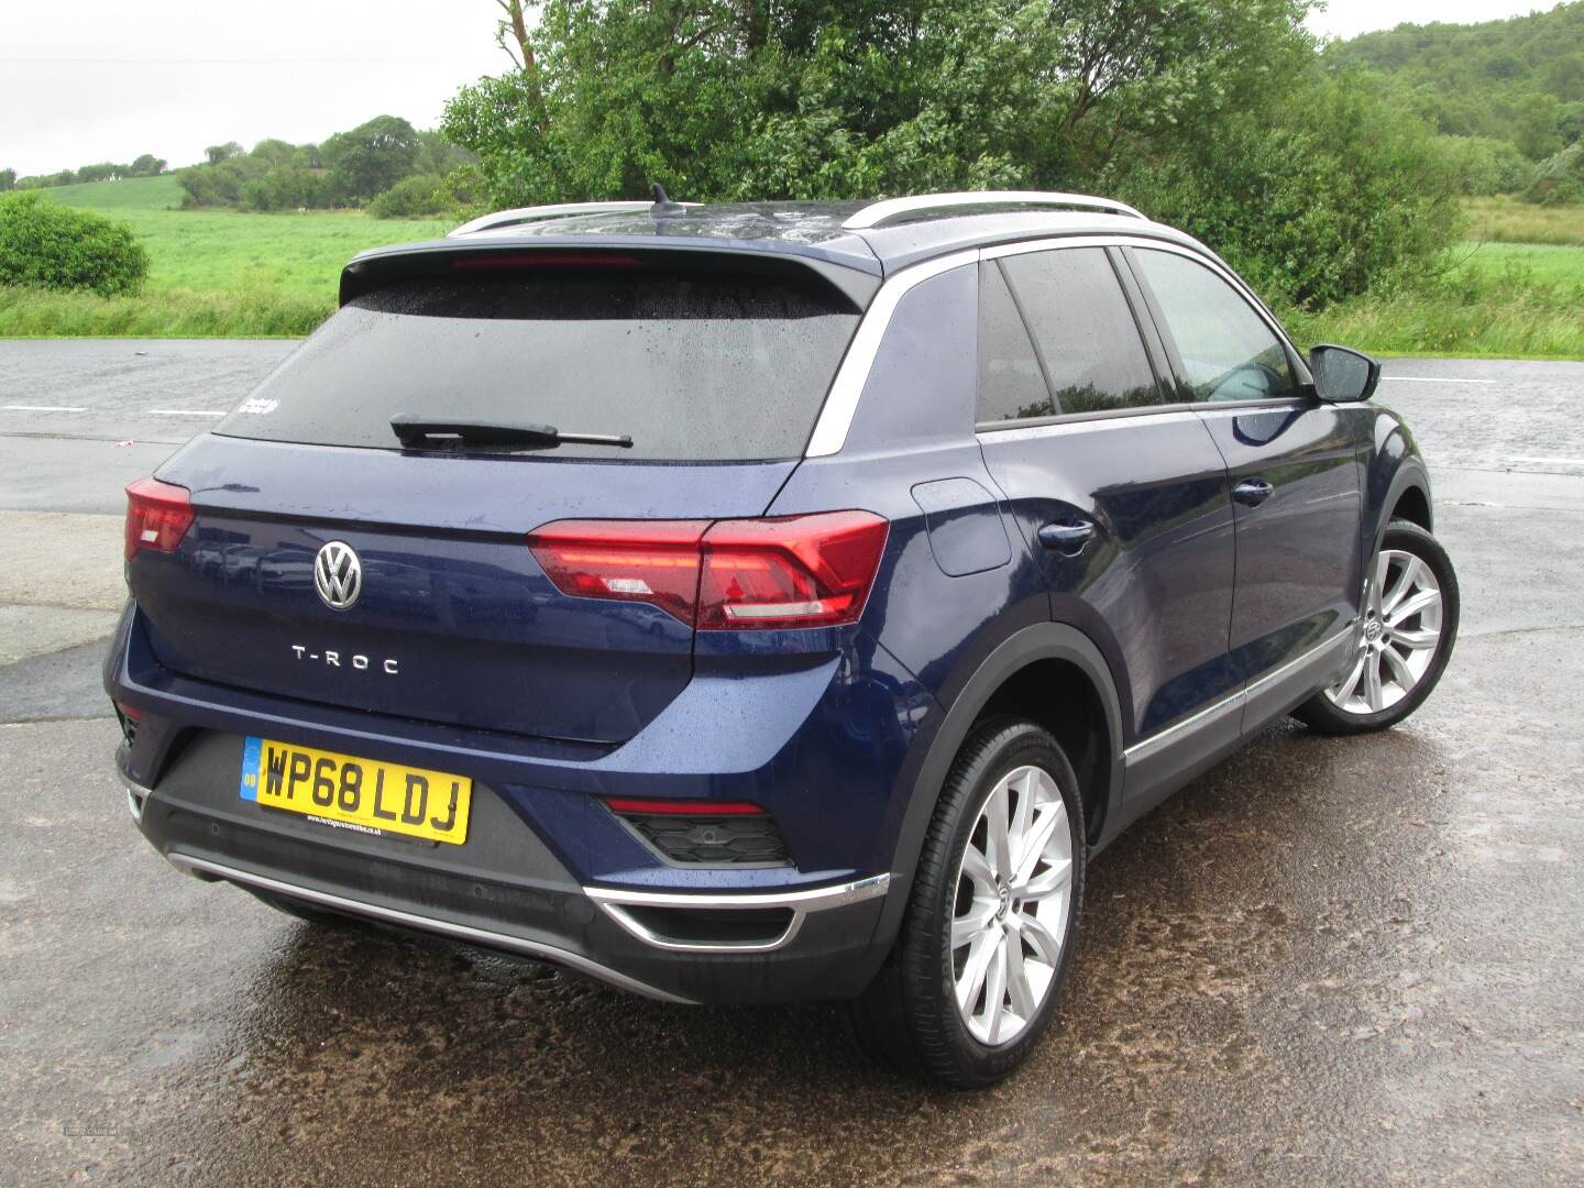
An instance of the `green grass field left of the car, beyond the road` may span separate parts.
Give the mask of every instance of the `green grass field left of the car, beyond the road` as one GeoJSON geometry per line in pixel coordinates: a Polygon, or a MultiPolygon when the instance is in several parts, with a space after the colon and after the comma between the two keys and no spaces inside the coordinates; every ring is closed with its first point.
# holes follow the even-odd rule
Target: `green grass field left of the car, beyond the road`
{"type": "Polygon", "coordinates": [[[0,290],[0,334],[152,337],[296,336],[336,307],[341,268],[366,247],[445,234],[442,220],[360,211],[181,211],[174,177],[62,185],[48,192],[127,223],[149,249],[136,298],[0,290]]]}

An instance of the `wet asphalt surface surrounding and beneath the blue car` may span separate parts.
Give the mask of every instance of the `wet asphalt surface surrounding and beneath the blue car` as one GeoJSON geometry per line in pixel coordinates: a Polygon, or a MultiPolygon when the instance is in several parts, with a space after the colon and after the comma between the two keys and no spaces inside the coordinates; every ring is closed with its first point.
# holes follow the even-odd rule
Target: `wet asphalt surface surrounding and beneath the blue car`
{"type": "Polygon", "coordinates": [[[1388,364],[1464,591],[1440,691],[1136,825],[1044,1045],[949,1095],[830,1006],[314,928],[136,836],[120,485],[288,348],[0,342],[0,1183],[1578,1183],[1584,364],[1388,364]]]}

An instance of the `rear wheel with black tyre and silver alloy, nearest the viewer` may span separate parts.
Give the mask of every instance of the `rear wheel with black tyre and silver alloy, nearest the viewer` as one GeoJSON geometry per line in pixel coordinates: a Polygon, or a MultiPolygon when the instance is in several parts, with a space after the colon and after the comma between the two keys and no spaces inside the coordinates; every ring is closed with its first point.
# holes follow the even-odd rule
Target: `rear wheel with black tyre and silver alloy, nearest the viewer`
{"type": "Polygon", "coordinates": [[[979,724],[946,778],[897,942],[851,1004],[860,1047],[952,1088],[1011,1074],[1050,1025],[1072,965],[1083,838],[1077,776],[1057,740],[1022,719],[979,724]]]}

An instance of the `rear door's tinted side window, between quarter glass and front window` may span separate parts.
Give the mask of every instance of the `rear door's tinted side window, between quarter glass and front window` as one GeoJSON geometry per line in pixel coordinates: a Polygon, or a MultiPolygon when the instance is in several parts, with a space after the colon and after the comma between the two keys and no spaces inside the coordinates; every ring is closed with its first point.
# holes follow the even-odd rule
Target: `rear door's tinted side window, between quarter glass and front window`
{"type": "Polygon", "coordinates": [[[1159,404],[1155,372],[1117,274],[1099,247],[1006,257],[1050,374],[1058,412],[1110,412],[1159,404]]]}

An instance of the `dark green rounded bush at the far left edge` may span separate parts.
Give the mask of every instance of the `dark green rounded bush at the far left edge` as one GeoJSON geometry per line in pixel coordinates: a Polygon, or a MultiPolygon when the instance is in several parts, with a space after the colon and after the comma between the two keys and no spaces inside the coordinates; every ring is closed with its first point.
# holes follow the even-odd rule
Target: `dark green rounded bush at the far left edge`
{"type": "Polygon", "coordinates": [[[36,192],[0,196],[0,284],[124,296],[147,274],[128,227],[36,192]]]}

